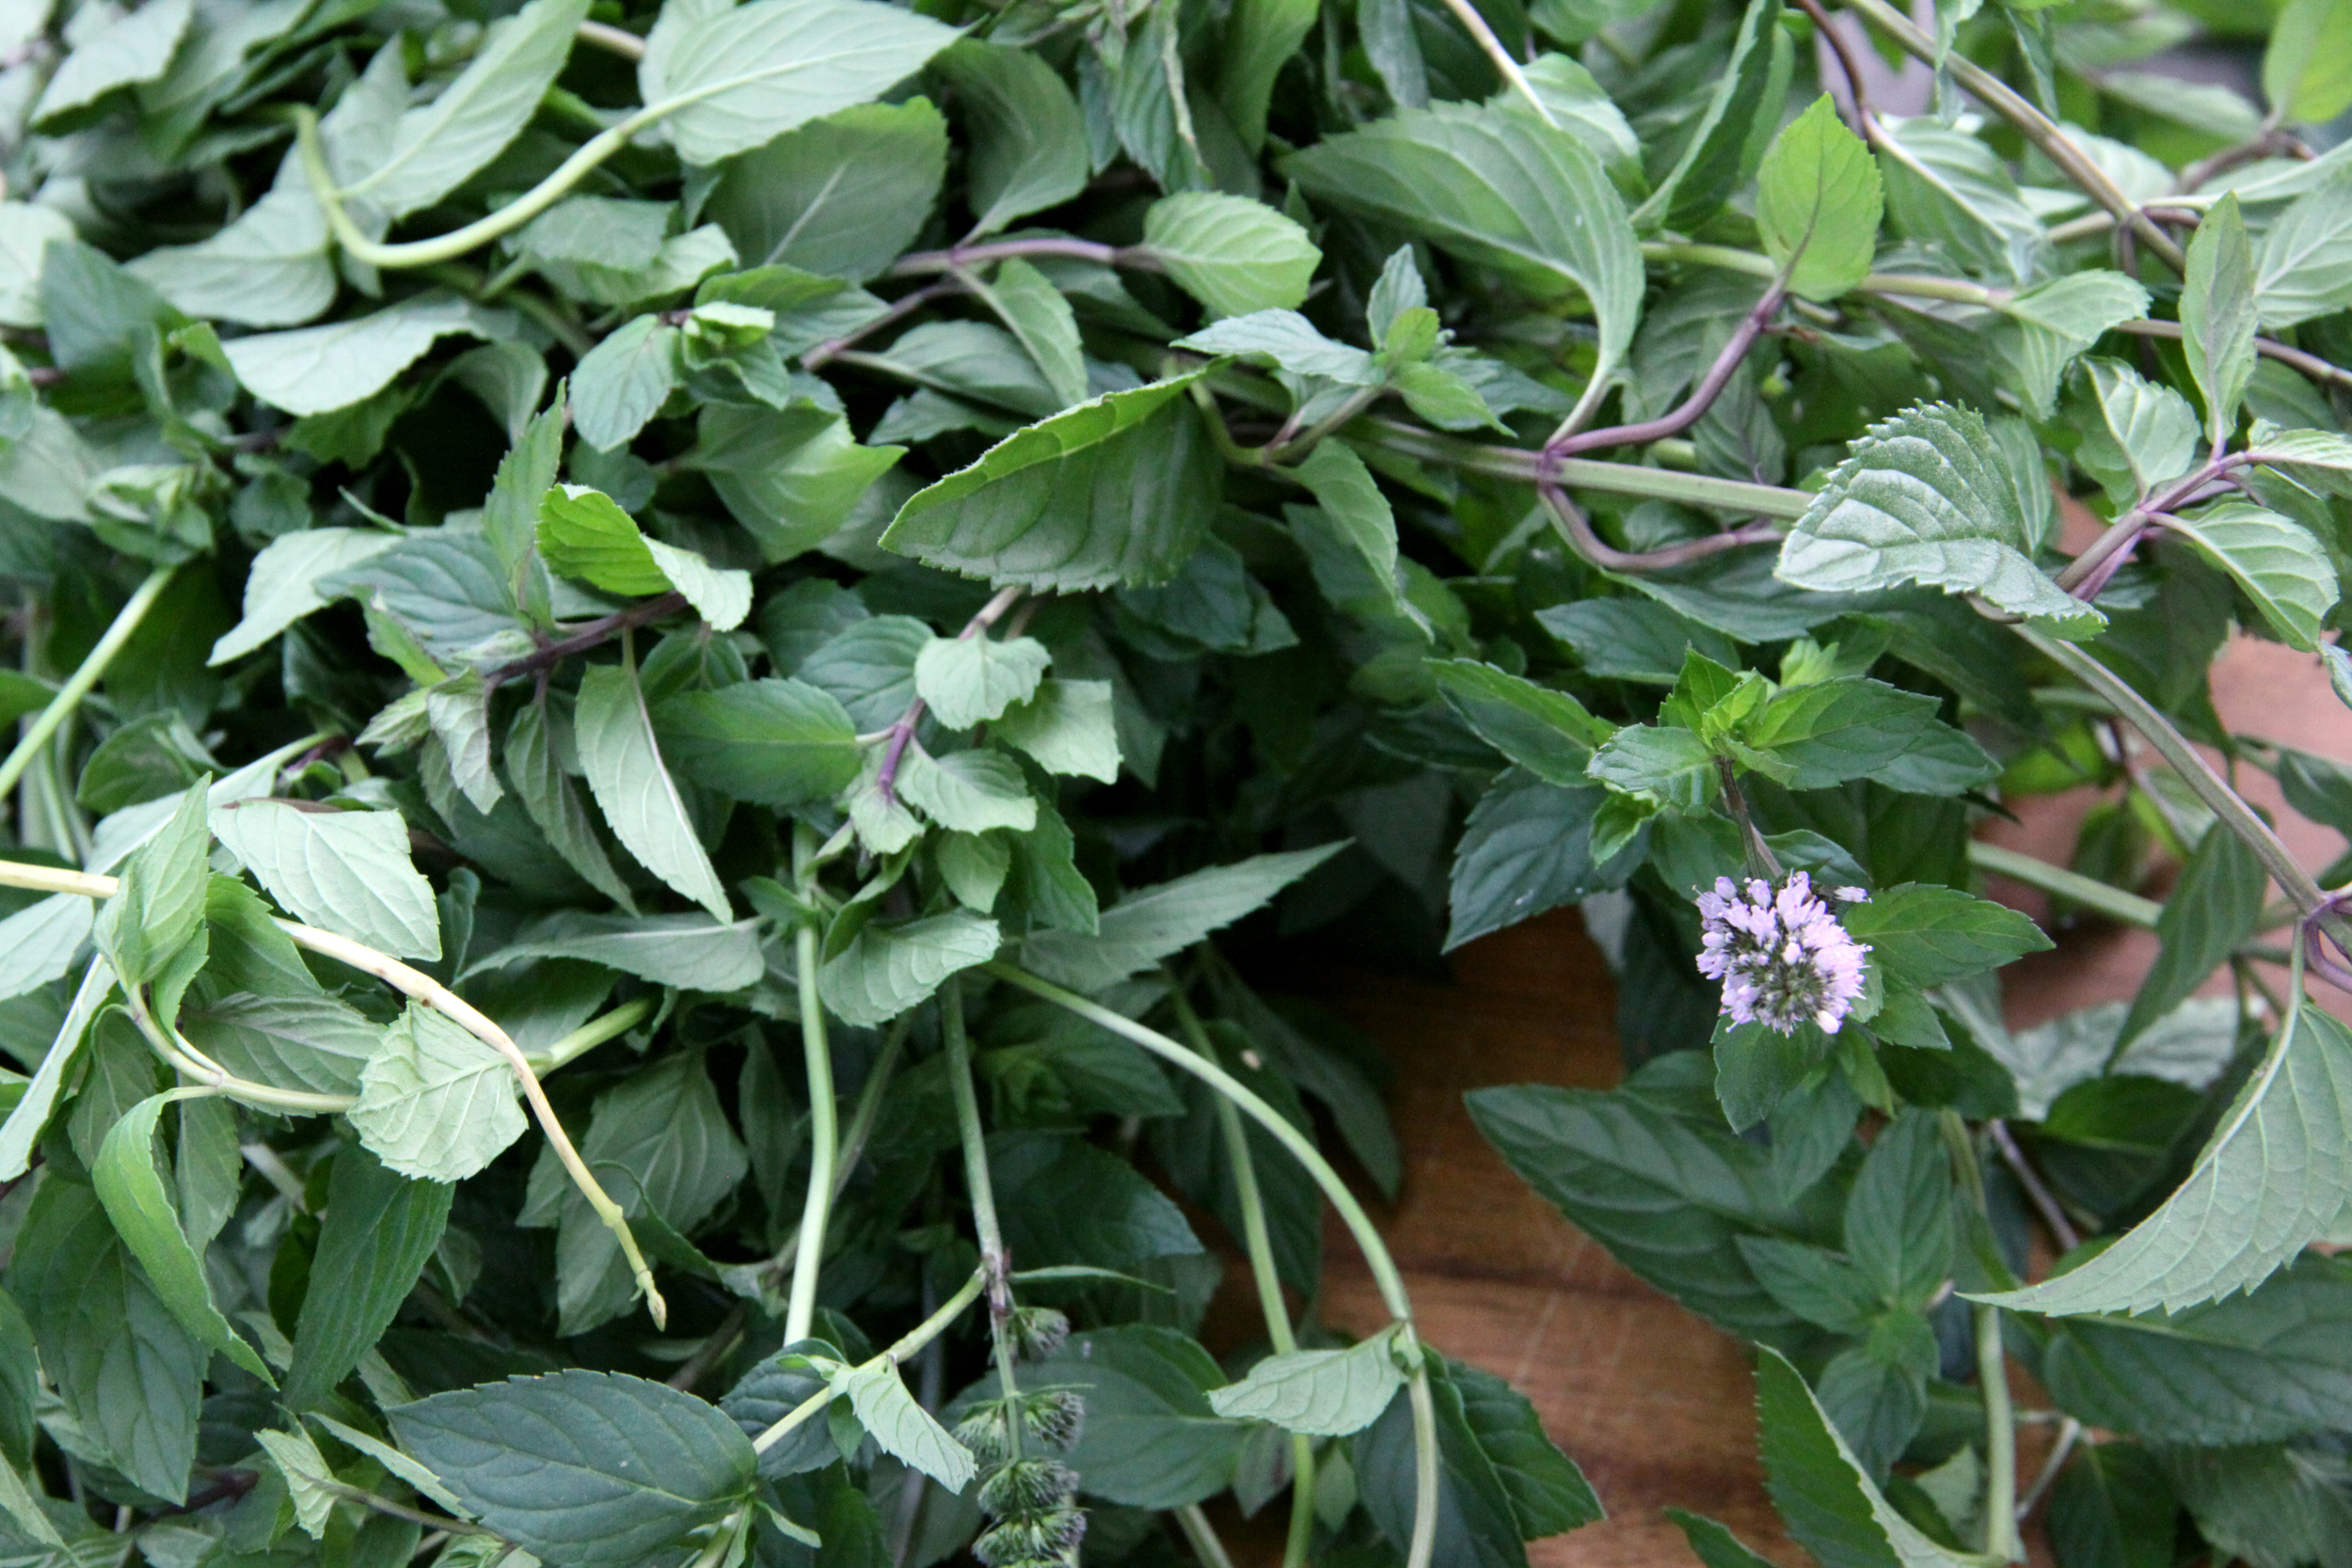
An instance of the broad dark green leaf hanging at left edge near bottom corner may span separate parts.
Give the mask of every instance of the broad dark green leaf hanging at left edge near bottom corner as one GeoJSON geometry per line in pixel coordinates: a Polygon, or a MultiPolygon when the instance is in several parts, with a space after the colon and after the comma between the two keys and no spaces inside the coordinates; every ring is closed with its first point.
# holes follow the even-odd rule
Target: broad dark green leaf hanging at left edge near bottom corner
{"type": "Polygon", "coordinates": [[[40,1182],[7,1291],[33,1324],[40,1368],[82,1436],[132,1486],[183,1500],[207,1349],[165,1307],[106,1222],[96,1192],[40,1182]]]}

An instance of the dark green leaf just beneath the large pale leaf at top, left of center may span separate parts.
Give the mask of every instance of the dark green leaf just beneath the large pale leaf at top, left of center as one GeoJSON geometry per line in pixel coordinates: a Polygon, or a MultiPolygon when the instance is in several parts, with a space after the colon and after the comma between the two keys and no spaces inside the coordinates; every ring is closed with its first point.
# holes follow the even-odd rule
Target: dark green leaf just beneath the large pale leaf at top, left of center
{"type": "Polygon", "coordinates": [[[748,268],[866,282],[915,242],[946,179],[948,120],[929,99],[858,103],[729,158],[703,216],[748,268]]]}

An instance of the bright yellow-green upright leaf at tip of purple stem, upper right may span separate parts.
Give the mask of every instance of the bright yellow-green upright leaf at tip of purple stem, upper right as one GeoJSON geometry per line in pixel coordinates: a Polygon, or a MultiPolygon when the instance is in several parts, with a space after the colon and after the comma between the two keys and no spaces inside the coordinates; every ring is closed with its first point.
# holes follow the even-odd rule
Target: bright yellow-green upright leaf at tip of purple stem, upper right
{"type": "Polygon", "coordinates": [[[1886,195],[1879,165],[1830,94],[1788,122],[1757,169],[1757,233],[1799,299],[1837,299],[1877,254],[1886,195]]]}

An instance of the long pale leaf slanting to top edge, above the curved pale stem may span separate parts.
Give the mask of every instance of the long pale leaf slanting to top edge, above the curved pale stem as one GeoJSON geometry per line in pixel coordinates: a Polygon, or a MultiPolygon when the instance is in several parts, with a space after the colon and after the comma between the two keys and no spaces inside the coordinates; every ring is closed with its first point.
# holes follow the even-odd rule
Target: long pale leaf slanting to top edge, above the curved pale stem
{"type": "Polygon", "coordinates": [[[454,82],[400,115],[383,158],[343,200],[400,219],[466,183],[529,125],[586,16],[588,0],[532,0],[494,24],[454,82]]]}

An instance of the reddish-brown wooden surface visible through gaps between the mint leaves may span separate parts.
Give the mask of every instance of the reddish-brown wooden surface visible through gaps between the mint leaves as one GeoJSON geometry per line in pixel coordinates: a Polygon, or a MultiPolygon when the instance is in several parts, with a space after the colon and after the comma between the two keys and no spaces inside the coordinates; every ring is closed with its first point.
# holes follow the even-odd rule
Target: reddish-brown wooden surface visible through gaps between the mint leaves
{"type": "MultiPolygon", "coordinates": [[[[2352,712],[2314,658],[2239,639],[2213,686],[2234,729],[2352,762],[2352,712]]],[[[2305,865],[2343,851],[2336,832],[2284,811],[2267,778],[2249,769],[2244,783],[2277,813],[2305,865]]],[[[1992,837],[2063,858],[2089,804],[2086,795],[2030,802],[2023,825],[2004,823],[1992,837]]],[[[2025,889],[1994,891],[2039,907],[2025,889]]],[[[2011,971],[2011,1023],[2129,997],[2152,952],[2147,933],[2070,931],[2058,952],[2011,971]]],[[[1804,1563],[1764,1497],[1740,1347],[1621,1269],[1522,1187],[1463,1110],[1463,1091],[1482,1084],[1618,1079],[1616,987],[1578,914],[1562,910],[1472,943],[1456,954],[1451,983],[1348,971],[1324,976],[1315,990],[1399,1065],[1395,1117],[1406,1185],[1381,1218],[1423,1333],[1524,1392],[1609,1507],[1609,1521],[1538,1542],[1534,1561],[1689,1568],[1696,1559],[1682,1533],[1658,1514],[1682,1505],[1722,1519],[1778,1561],[1804,1563]]],[[[1331,1321],[1352,1331],[1385,1321],[1336,1225],[1327,1281],[1331,1321]]],[[[2020,1399],[2032,1396],[2020,1389],[2020,1399]]],[[[2027,1450],[2025,1479],[2037,1458],[2027,1450]]],[[[2039,1549],[2037,1561],[2046,1563],[2039,1549]]]]}

